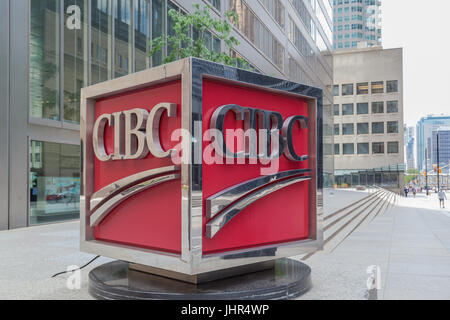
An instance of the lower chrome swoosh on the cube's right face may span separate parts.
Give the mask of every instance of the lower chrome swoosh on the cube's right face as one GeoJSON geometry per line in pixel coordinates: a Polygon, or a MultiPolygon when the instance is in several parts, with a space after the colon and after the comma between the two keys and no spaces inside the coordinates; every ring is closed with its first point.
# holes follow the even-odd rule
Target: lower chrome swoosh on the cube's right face
{"type": "Polygon", "coordinates": [[[237,216],[242,210],[244,210],[246,207],[251,205],[252,203],[264,198],[265,196],[268,196],[269,194],[272,194],[278,190],[281,190],[283,188],[286,188],[290,185],[304,182],[311,180],[310,176],[300,176],[300,177],[293,177],[289,178],[277,183],[270,183],[266,187],[259,189],[250,195],[246,196],[245,198],[237,201],[236,204],[222,212],[220,215],[218,215],[216,218],[214,218],[212,221],[208,222],[206,224],[206,237],[209,239],[214,238],[214,236],[223,228],[225,227],[235,216],[237,216]]]}

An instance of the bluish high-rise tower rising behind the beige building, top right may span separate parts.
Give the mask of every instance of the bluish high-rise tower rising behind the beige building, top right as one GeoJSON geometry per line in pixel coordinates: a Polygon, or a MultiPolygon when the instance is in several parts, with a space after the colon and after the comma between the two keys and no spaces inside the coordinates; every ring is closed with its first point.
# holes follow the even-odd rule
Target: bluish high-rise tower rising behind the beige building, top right
{"type": "Polygon", "coordinates": [[[381,0],[333,0],[334,50],[381,46],[381,0]]]}

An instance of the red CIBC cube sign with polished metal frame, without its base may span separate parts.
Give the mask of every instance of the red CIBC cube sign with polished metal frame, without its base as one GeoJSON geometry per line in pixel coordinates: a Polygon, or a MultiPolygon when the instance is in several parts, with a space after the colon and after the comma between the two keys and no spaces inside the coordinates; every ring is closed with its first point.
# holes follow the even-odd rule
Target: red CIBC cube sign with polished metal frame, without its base
{"type": "Polygon", "coordinates": [[[82,90],[82,250],[200,274],[320,249],[322,92],[198,59],[82,90]]]}

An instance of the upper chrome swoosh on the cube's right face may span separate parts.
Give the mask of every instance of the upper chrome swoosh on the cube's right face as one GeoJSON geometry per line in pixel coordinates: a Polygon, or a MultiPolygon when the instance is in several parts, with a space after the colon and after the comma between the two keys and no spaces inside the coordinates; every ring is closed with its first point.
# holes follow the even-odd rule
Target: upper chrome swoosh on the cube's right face
{"type": "Polygon", "coordinates": [[[214,218],[220,211],[235,202],[237,199],[242,198],[243,196],[252,193],[256,189],[259,189],[269,183],[309,172],[311,172],[311,169],[289,170],[262,178],[248,180],[229,187],[206,199],[206,218],[214,218]]]}

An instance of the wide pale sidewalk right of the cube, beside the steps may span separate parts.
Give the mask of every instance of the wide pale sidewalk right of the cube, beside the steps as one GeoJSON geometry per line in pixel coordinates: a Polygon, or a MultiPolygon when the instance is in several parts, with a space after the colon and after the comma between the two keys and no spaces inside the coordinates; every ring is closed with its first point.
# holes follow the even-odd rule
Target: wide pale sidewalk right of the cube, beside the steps
{"type": "Polygon", "coordinates": [[[450,299],[450,210],[439,209],[435,194],[399,198],[332,253],[318,253],[307,264],[314,287],[301,299],[365,299],[371,265],[381,269],[379,299],[450,299]]]}

